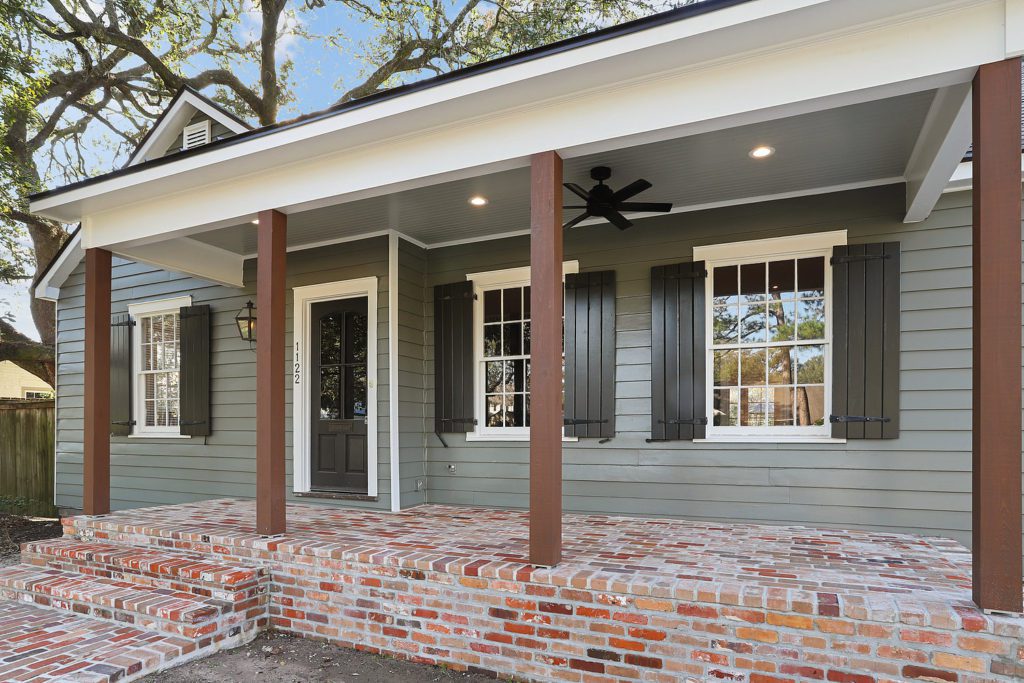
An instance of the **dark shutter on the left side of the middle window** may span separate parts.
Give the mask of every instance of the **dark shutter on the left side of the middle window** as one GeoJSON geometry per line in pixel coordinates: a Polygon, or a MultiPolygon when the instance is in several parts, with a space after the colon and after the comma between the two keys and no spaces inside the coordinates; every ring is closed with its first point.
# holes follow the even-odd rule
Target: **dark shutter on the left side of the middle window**
{"type": "Polygon", "coordinates": [[[434,287],[434,432],[473,431],[473,283],[434,287]]]}

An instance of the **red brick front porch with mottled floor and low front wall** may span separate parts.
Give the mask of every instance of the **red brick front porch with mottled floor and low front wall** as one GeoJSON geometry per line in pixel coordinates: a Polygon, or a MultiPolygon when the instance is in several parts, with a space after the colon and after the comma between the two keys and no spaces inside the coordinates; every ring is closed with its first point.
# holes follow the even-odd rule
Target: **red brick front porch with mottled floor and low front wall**
{"type": "MultiPolygon", "coordinates": [[[[147,574],[173,577],[180,554],[266,570],[263,614],[251,610],[244,624],[268,616],[271,628],[335,644],[524,680],[1024,676],[1024,622],[973,604],[971,555],[952,541],[568,514],[562,562],[538,568],[522,511],[293,504],[287,513],[289,531],[276,539],[256,531],[247,501],[72,517],[63,540],[31,544],[25,557],[39,581],[71,570],[144,584],[147,574]],[[161,552],[169,556],[160,560],[161,552]]],[[[11,571],[0,592],[11,590],[11,571]]],[[[59,591],[20,593],[60,606],[59,591]]],[[[0,641],[0,661],[9,649],[0,641]]]]}

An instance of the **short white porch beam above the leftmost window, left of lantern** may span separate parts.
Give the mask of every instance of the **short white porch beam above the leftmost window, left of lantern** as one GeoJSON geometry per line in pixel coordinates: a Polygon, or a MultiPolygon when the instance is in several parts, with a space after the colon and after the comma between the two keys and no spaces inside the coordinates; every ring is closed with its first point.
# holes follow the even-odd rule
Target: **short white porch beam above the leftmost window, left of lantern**
{"type": "Polygon", "coordinates": [[[115,253],[132,261],[141,261],[218,285],[243,285],[245,257],[199,240],[178,238],[130,249],[118,249],[115,253]]]}

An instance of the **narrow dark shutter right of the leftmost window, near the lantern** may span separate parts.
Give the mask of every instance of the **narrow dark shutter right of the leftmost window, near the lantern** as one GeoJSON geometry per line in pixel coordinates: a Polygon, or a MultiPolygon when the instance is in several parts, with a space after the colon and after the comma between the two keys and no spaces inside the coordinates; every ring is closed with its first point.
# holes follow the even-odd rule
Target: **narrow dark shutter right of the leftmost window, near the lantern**
{"type": "Polygon", "coordinates": [[[182,306],[178,429],[187,436],[209,436],[210,306],[182,306]]]}

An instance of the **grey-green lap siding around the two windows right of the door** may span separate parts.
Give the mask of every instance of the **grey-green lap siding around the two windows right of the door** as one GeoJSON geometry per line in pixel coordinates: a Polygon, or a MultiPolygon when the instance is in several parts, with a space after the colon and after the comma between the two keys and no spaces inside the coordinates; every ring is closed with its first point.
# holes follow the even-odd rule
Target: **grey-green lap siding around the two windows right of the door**
{"type": "MultiPolygon", "coordinates": [[[[901,222],[902,186],[803,198],[640,221],[620,232],[566,236],[583,271],[614,269],[616,436],[564,447],[567,510],[693,519],[888,528],[954,537],[971,528],[970,194],[946,196],[928,221],[901,222]],[[846,444],[646,443],[650,435],[650,267],[697,245],[846,228],[851,243],[902,251],[901,433],[846,444]]],[[[524,265],[528,239],[428,252],[427,286],[524,265]]],[[[429,290],[428,290],[429,291],[429,290]]],[[[429,297],[429,294],[428,294],[429,297]]],[[[432,307],[425,308],[432,388],[432,307]]],[[[432,418],[432,391],[425,393],[432,418]]],[[[428,439],[428,499],[525,507],[524,443],[428,439]],[[455,465],[456,471],[449,471],[455,465]]]]}

